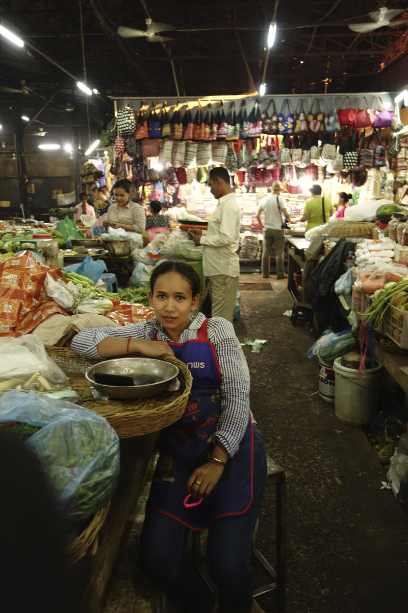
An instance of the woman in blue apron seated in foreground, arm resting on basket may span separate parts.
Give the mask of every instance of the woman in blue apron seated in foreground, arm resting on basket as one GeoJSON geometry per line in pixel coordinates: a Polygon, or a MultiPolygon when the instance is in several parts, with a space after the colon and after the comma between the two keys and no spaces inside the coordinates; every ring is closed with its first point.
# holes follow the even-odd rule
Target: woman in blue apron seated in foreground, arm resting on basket
{"type": "Polygon", "coordinates": [[[183,611],[214,613],[218,602],[187,557],[188,530],[209,526],[207,566],[213,582],[236,613],[261,613],[252,596],[250,554],[267,466],[249,407],[247,362],[230,322],[201,313],[191,318],[200,280],[190,265],[163,262],[150,286],[154,319],[83,330],[71,345],[92,359],[176,356],[193,375],[184,416],[164,431],[146,506],[141,566],[183,611]]]}

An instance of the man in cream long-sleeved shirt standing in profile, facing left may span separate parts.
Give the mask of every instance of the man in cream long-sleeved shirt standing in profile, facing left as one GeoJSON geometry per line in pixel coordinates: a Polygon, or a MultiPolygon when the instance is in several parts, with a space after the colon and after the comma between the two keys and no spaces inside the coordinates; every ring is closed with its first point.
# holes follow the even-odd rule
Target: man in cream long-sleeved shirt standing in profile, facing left
{"type": "Polygon", "coordinates": [[[228,170],[216,166],[209,172],[208,185],[218,200],[208,230],[195,230],[195,244],[202,245],[202,267],[209,278],[212,317],[232,322],[239,284],[239,230],[241,213],[228,170]]]}

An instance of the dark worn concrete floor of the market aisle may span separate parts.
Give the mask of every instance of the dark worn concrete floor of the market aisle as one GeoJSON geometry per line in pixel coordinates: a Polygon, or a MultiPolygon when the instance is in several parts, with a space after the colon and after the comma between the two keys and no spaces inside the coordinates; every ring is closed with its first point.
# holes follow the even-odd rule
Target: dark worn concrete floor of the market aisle
{"type": "MultiPolygon", "coordinates": [[[[242,282],[262,281],[242,275],[242,282]]],[[[251,408],[269,455],[287,477],[287,613],[408,611],[408,521],[360,427],[339,422],[317,390],[314,338],[292,327],[286,281],[273,291],[243,291],[237,336],[262,338],[259,354],[244,351],[251,372],[251,408]]],[[[274,494],[267,489],[256,544],[273,565],[274,494]]],[[[143,500],[141,501],[143,503],[143,500]]],[[[109,584],[104,613],[158,613],[161,596],[137,566],[140,508],[130,518],[109,584]]],[[[267,577],[254,564],[256,586],[267,577]]],[[[258,600],[273,613],[272,595],[258,600]]],[[[176,613],[167,606],[166,613],[176,613]]],[[[228,605],[219,613],[230,613],[228,605]]]]}

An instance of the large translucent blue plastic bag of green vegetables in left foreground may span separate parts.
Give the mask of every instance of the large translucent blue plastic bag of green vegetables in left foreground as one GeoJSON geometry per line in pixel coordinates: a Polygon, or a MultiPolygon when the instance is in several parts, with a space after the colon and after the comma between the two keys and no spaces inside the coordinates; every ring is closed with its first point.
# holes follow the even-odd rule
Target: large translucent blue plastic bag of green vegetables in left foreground
{"type": "Polygon", "coordinates": [[[0,422],[41,429],[26,445],[37,455],[65,519],[77,523],[102,509],[119,476],[119,438],[106,419],[84,407],[34,392],[0,398],[0,422]]]}

